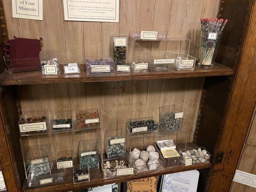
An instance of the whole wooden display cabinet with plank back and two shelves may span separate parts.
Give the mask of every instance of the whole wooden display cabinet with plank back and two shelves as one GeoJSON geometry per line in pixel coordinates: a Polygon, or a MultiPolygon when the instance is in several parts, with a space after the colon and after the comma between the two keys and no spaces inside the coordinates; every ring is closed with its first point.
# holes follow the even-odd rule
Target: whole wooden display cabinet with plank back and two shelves
{"type": "MultiPolygon", "coordinates": [[[[30,38],[44,35],[46,47],[56,46],[59,49],[62,63],[73,59],[83,63],[84,54],[107,54],[110,36],[114,33],[125,31],[128,35],[131,28],[136,31],[144,28],[156,30],[159,26],[166,27],[166,29],[159,28],[159,30],[169,30],[174,35],[185,31],[185,35],[192,39],[190,51],[196,56],[200,17],[214,17],[220,10],[219,17],[229,19],[229,25],[223,34],[216,59],[216,62],[221,64],[216,63],[212,69],[202,69],[196,66],[194,71],[150,72],[148,74],[116,73],[92,77],[85,75],[83,65],[81,65],[81,73],[74,75],[63,74],[62,69],[60,75],[54,76],[44,76],[41,72],[10,74],[2,71],[0,74],[0,161],[7,190],[10,192],[65,192],[200,169],[198,191],[228,191],[253,111],[255,103],[253,90],[256,89],[256,65],[253,60],[256,44],[255,1],[246,0],[241,5],[239,2],[239,0],[220,2],[134,0],[130,3],[130,1],[122,0],[119,25],[93,22],[66,23],[63,21],[62,12],[49,11],[52,10],[52,7],[57,8],[61,3],[61,1],[55,0],[44,1],[46,14],[44,13],[43,21],[16,19],[12,18],[11,3],[4,2],[2,4],[1,2],[1,8],[2,5],[4,8],[4,12],[1,12],[1,30],[4,30],[0,33],[1,37],[7,35],[6,26],[9,38],[13,35],[30,38]],[[133,14],[129,12],[130,9],[127,11],[125,6],[128,5],[131,6],[131,9],[134,8],[136,13],[142,15],[133,14]],[[179,10],[181,14],[173,15],[173,12],[170,11],[181,7],[182,10],[179,10]],[[201,9],[200,11],[198,7],[201,9]],[[239,14],[234,15],[234,12],[239,12],[239,14]],[[127,26],[127,22],[133,18],[133,15],[136,15],[135,24],[130,23],[127,26]],[[163,15],[166,18],[171,18],[170,21],[162,21],[163,15]],[[175,16],[180,18],[175,18],[175,16]],[[142,20],[142,18],[144,19],[142,20]],[[147,23],[145,19],[154,20],[154,23],[147,23]],[[180,19],[183,19],[184,24],[176,22],[180,22],[180,19]],[[158,22],[165,24],[158,26],[158,22]],[[31,27],[30,30],[27,30],[25,26],[31,27]],[[173,26],[177,27],[177,31],[171,31],[173,26]],[[179,29],[181,30],[179,31],[179,29]],[[84,30],[83,33],[80,33],[81,30],[84,30]],[[196,35],[191,30],[194,30],[196,35]],[[75,38],[73,38],[74,34],[75,38]],[[63,40],[60,36],[65,39],[63,40]],[[93,39],[92,37],[95,41],[90,41],[93,39]],[[82,38],[83,41],[81,41],[82,38]],[[99,40],[100,38],[102,41],[99,40]],[[48,132],[46,135],[25,136],[27,140],[24,143],[27,146],[50,143],[53,156],[58,151],[65,150],[65,148],[70,150],[68,147],[71,147],[73,158],[78,158],[79,141],[85,140],[85,138],[96,139],[97,135],[101,135],[103,143],[104,131],[110,127],[118,135],[125,131],[127,119],[142,116],[158,118],[159,106],[173,103],[183,105],[185,110],[183,127],[188,131],[188,141],[207,148],[212,154],[211,163],[187,167],[165,167],[160,171],[114,179],[103,179],[99,169],[94,172],[94,176],[88,182],[73,184],[72,177],[68,177],[64,182],[55,185],[27,187],[21,150],[22,142],[20,143],[20,139],[23,140],[23,138],[20,138],[18,129],[18,120],[24,110],[73,109],[73,118],[75,109],[101,108],[107,111],[111,118],[104,115],[100,117],[101,128],[99,131],[101,134],[95,134],[93,130],[89,130],[56,134],[48,132]],[[221,156],[222,153],[223,156],[221,156]]],[[[159,42],[157,45],[148,42],[143,44],[143,50],[171,47],[167,42],[159,42]]],[[[2,45],[3,41],[1,41],[2,45]]],[[[133,51],[129,51],[129,54],[131,53],[133,51]]],[[[4,63],[1,61],[2,69],[4,69],[3,65],[4,63]]]]}

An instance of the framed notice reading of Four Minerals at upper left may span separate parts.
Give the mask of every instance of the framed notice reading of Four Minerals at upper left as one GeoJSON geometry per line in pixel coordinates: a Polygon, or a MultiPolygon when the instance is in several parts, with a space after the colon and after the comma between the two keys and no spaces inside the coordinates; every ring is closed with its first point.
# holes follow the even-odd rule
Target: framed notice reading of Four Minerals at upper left
{"type": "Polygon", "coordinates": [[[43,20],[43,0],[12,0],[12,17],[43,20]]]}

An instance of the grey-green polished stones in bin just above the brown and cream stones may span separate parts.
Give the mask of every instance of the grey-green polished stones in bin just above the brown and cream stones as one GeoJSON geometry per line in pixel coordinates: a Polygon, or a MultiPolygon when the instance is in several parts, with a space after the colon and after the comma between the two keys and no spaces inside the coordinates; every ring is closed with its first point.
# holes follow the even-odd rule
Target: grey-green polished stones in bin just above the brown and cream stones
{"type": "Polygon", "coordinates": [[[125,143],[110,144],[110,140],[112,140],[112,139],[121,139],[121,138],[123,138],[123,137],[110,137],[110,138],[108,138],[108,158],[125,155],[125,143]]]}

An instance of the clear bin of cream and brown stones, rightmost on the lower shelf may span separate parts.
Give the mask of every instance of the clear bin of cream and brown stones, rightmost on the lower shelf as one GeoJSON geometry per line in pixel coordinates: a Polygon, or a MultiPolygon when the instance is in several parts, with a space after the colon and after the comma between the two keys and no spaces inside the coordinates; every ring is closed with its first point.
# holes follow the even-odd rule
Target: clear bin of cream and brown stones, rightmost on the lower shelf
{"type": "Polygon", "coordinates": [[[204,147],[187,147],[186,150],[178,152],[181,156],[180,161],[185,166],[209,163],[211,159],[211,154],[204,147]]]}

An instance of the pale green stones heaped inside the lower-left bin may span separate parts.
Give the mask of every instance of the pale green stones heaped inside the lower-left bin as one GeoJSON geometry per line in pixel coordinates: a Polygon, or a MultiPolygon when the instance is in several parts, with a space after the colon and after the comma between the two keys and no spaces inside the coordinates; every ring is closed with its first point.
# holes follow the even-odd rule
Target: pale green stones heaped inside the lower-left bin
{"type": "Polygon", "coordinates": [[[43,159],[40,159],[42,163],[33,163],[37,159],[31,161],[28,166],[28,177],[37,177],[41,175],[47,175],[50,173],[50,165],[49,165],[49,159],[48,157],[45,157],[43,159]]]}

